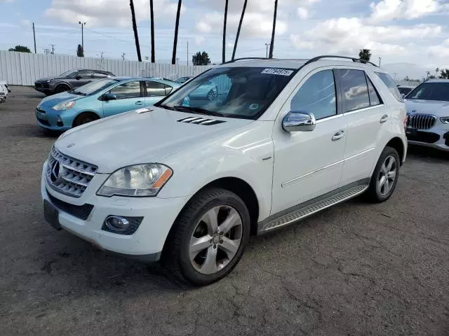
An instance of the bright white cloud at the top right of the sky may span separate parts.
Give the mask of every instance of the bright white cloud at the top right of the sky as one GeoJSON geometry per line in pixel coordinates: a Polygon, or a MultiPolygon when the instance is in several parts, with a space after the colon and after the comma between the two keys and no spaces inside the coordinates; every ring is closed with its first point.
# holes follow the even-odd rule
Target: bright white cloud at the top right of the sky
{"type": "Polygon", "coordinates": [[[370,4],[372,22],[394,19],[416,19],[443,10],[440,0],[382,0],[370,4]]]}

